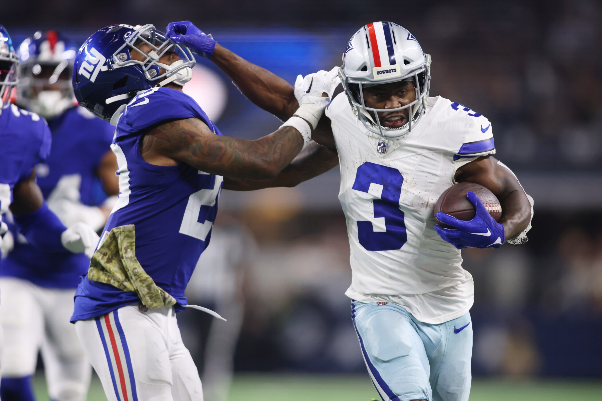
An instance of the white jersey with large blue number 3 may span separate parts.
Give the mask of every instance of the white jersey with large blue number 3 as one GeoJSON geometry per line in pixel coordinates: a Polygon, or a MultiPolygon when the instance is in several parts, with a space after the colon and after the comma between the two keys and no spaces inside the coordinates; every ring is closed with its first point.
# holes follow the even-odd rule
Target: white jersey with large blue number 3
{"type": "Polygon", "coordinates": [[[495,153],[491,123],[479,113],[431,97],[407,135],[368,131],[344,93],[326,109],[341,168],[339,200],[347,219],[352,284],[360,302],[402,305],[425,323],[443,323],[473,304],[473,278],[460,251],[434,230],[435,202],[461,165],[495,153]]]}

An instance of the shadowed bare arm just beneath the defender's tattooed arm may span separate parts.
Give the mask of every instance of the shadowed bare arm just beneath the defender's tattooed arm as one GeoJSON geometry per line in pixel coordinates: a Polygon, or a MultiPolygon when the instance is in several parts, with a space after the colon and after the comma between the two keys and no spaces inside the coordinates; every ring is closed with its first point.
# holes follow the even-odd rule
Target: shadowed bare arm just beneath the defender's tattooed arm
{"type": "Polygon", "coordinates": [[[249,180],[224,177],[224,189],[232,191],[255,191],[276,186],[297,186],[338,165],[337,152],[311,141],[278,176],[265,180],[249,180]]]}

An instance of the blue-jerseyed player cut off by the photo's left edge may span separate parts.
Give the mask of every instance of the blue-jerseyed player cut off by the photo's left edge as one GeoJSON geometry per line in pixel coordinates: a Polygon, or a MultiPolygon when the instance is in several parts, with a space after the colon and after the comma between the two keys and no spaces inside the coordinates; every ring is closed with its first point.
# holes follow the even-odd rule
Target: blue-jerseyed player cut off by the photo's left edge
{"type": "MultiPolygon", "coordinates": [[[[55,255],[86,253],[92,255],[98,235],[87,224],[78,222],[66,228],[49,210],[36,183],[36,165],[48,158],[51,133],[39,115],[11,105],[11,93],[17,87],[18,57],[4,26],[0,25],[0,216],[8,210],[20,233],[32,245],[55,255]]],[[[0,245],[6,224],[0,225],[0,245]]],[[[0,269],[2,269],[0,263],[0,269]]],[[[33,274],[44,272],[34,272],[33,274]]],[[[2,293],[2,301],[5,301],[2,293]]],[[[29,312],[28,304],[18,310],[2,310],[2,322],[18,326],[29,312]]],[[[11,352],[6,347],[2,354],[11,352]]],[[[2,366],[2,370],[10,366],[2,366]]],[[[2,381],[4,399],[33,400],[31,387],[2,381]],[[7,392],[4,393],[4,388],[7,392]],[[13,391],[10,391],[10,390],[13,391]],[[25,393],[23,393],[25,391],[25,393]]]]}

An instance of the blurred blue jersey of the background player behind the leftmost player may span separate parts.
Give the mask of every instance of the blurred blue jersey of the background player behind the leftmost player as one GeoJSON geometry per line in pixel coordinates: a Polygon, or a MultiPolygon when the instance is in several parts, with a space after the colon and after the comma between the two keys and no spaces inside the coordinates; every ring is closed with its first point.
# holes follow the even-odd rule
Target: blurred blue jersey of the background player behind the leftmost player
{"type": "MultiPolygon", "coordinates": [[[[50,156],[36,166],[36,180],[48,200],[61,192],[79,195],[96,206],[95,180],[99,164],[111,150],[114,127],[81,107],[73,107],[48,121],[52,132],[50,156]]],[[[18,239],[18,237],[17,237],[18,239]]],[[[16,240],[0,276],[17,277],[46,288],[75,289],[90,259],[85,254],[48,253],[16,240]]]]}

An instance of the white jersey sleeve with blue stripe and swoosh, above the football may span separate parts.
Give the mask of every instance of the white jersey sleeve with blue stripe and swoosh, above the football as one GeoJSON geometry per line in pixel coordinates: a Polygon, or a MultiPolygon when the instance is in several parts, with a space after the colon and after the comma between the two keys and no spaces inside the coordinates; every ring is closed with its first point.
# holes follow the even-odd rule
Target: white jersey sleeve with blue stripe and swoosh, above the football
{"type": "Polygon", "coordinates": [[[495,142],[493,129],[489,120],[483,116],[468,129],[464,141],[453,156],[458,167],[473,161],[479,156],[494,155],[495,142]]]}

